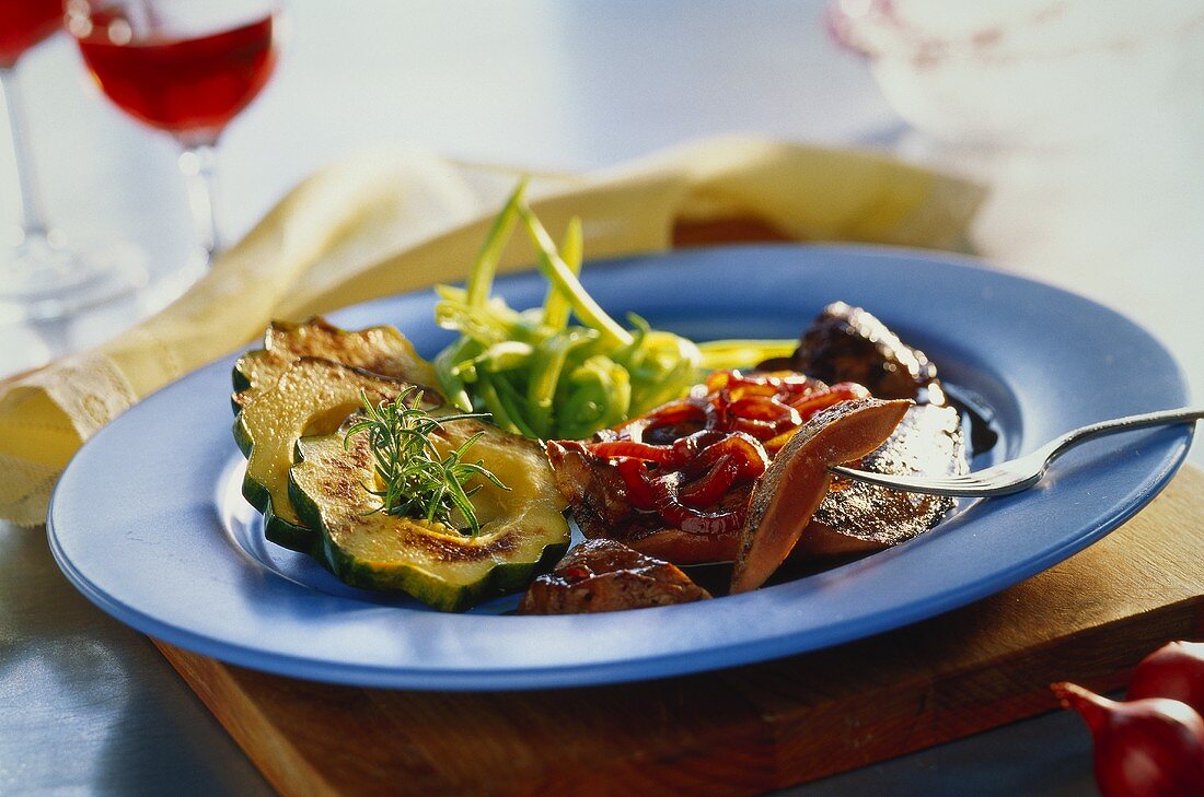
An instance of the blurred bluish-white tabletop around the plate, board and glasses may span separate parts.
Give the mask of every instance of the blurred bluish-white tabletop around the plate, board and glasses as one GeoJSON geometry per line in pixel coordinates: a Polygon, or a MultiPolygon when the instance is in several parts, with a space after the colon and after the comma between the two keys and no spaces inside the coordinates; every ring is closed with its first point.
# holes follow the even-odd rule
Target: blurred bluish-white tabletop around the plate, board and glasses
{"type": "MultiPolygon", "coordinates": [[[[867,66],[828,40],[822,11],[814,0],[294,0],[276,77],[223,141],[223,228],[240,234],[306,173],[364,145],[584,169],[733,131],[868,142],[988,176],[974,237],[990,260],[1122,309],[1204,385],[1204,119],[1181,113],[1204,108],[1198,93],[1155,114],[1157,141],[1174,145],[1134,144],[1123,168],[1104,149],[1073,169],[1033,153],[996,154],[984,169],[981,153],[909,133],[867,66]]],[[[1178,85],[1204,87],[1198,77],[1178,85]]],[[[34,50],[20,79],[53,219],[129,239],[170,274],[191,240],[171,142],[108,106],[64,37],[34,50]]],[[[1143,130],[1126,113],[1117,130],[1143,130]]],[[[0,169],[0,218],[16,219],[12,165],[0,169]]],[[[132,313],[117,303],[70,323],[0,326],[0,375],[99,343],[132,313]]],[[[1200,446],[1191,458],[1204,463],[1200,446]]],[[[42,533],[2,524],[0,706],[2,793],[270,792],[149,641],[61,578],[42,533]]],[[[886,792],[1093,793],[1087,734],[1051,714],[792,791],[886,792]]]]}

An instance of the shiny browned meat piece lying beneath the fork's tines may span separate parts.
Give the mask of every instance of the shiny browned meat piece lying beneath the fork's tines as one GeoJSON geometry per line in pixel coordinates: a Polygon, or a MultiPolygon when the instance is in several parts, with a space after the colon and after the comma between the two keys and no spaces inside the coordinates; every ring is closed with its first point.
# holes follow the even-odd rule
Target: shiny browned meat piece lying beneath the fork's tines
{"type": "MultiPolygon", "coordinates": [[[[896,475],[967,472],[957,410],[931,404],[911,408],[883,447],[858,466],[896,475]]],[[[954,499],[943,495],[902,493],[837,478],[798,549],[842,554],[889,548],[927,531],[954,505],[954,499]]]]}

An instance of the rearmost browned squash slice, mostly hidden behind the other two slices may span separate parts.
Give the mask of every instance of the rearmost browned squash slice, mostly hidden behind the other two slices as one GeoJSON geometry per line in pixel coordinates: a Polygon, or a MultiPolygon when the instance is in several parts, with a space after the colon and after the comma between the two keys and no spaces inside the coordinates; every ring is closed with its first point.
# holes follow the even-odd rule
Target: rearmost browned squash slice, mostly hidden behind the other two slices
{"type": "Polygon", "coordinates": [[[393,327],[341,329],[325,319],[302,323],[273,321],[264,333],[264,347],[248,351],[234,365],[234,411],[250,404],[302,357],[329,359],[414,385],[438,385],[431,364],[393,327]]]}

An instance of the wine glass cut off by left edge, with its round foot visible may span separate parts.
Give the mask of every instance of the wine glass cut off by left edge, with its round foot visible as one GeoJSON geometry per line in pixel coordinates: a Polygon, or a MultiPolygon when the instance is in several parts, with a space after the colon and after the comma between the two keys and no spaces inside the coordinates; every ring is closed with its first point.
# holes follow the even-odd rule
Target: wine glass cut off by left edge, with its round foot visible
{"type": "Polygon", "coordinates": [[[49,321],[140,286],[146,279],[143,256],[129,244],[73,240],[48,225],[34,174],[17,63],[61,26],[61,0],[0,0],[0,84],[22,209],[19,238],[0,248],[0,317],[49,321]]]}

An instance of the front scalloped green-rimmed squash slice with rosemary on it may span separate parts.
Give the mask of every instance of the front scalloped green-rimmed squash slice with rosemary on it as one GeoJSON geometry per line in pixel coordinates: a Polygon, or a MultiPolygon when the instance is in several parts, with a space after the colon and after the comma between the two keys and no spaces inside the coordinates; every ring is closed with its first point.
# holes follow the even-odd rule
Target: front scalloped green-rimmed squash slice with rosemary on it
{"type": "Polygon", "coordinates": [[[566,504],[533,440],[471,420],[448,423],[432,442],[445,456],[478,432],[467,459],[480,460],[509,490],[470,483],[479,484],[476,536],[379,511],[380,498],[365,487],[376,480],[367,435],[347,447],[337,434],[299,441],[289,489],[301,518],[320,533],[313,557],[348,584],[400,590],[449,612],[525,589],[568,546],[566,504]]]}

